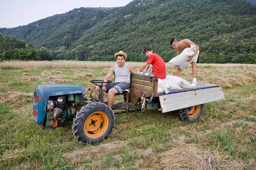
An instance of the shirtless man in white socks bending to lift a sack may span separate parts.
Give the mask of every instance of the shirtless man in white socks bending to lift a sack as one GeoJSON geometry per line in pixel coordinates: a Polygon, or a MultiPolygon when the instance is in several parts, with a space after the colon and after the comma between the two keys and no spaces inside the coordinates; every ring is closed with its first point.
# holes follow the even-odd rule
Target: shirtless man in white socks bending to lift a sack
{"type": "MultiPolygon", "coordinates": [[[[193,71],[192,86],[195,87],[196,86],[196,74],[197,74],[196,63],[199,62],[199,47],[198,47],[198,45],[196,45],[194,42],[190,41],[189,39],[184,39],[184,40],[178,41],[177,39],[172,38],[170,40],[170,45],[173,48],[175,48],[176,56],[180,54],[179,50],[184,50],[185,48],[190,47],[191,44],[196,46],[195,54],[188,57],[187,61],[190,62],[193,59],[193,62],[191,63],[192,71],[193,71]]],[[[179,68],[179,66],[176,66],[176,67],[178,67],[177,72],[176,72],[176,76],[180,76],[181,69],[179,68]]]]}

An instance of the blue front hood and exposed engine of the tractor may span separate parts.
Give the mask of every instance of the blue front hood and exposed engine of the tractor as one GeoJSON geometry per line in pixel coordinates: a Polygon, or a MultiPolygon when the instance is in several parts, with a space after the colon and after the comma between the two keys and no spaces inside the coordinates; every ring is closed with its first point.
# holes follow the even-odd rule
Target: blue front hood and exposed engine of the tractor
{"type": "Polygon", "coordinates": [[[81,85],[38,85],[34,92],[33,120],[43,128],[73,123],[87,99],[81,85]]]}

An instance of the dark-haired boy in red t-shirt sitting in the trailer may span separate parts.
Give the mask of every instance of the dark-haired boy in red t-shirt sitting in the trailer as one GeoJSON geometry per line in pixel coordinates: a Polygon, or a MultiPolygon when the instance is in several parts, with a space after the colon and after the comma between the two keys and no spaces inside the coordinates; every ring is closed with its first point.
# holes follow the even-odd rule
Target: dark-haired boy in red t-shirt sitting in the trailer
{"type": "Polygon", "coordinates": [[[140,68],[139,71],[144,70],[149,64],[153,66],[153,75],[158,76],[160,79],[164,79],[166,77],[165,71],[165,63],[162,57],[158,54],[153,53],[152,48],[145,47],[143,49],[143,53],[148,57],[146,63],[140,68]]]}

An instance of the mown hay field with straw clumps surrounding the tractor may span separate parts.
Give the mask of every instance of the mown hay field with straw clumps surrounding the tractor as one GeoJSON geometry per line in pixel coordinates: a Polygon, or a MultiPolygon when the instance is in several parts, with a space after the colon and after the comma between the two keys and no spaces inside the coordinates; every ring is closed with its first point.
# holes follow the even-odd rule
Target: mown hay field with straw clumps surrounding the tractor
{"type": "MultiPolygon", "coordinates": [[[[78,143],[71,127],[36,125],[33,92],[36,85],[73,84],[90,87],[89,97],[95,94],[89,80],[103,79],[114,63],[36,63],[0,63],[0,169],[256,167],[256,65],[198,64],[198,82],[222,86],[226,99],[204,104],[196,122],[181,122],[177,111],[116,115],[110,137],[91,145],[78,143]]],[[[131,64],[138,70],[143,63],[131,64]]],[[[181,77],[191,81],[191,67],[181,77]]]]}

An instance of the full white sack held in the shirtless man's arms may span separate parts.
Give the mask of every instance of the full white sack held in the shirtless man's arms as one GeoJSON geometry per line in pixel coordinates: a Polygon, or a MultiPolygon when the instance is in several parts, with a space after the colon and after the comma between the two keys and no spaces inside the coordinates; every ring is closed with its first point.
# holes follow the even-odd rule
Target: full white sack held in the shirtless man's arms
{"type": "Polygon", "coordinates": [[[183,70],[185,67],[187,67],[188,64],[192,63],[194,60],[192,59],[190,62],[188,62],[188,57],[195,54],[196,46],[193,44],[190,45],[190,48],[185,48],[180,55],[177,55],[176,57],[172,58],[168,62],[168,64],[172,64],[174,66],[179,65],[180,70],[183,70]]]}

